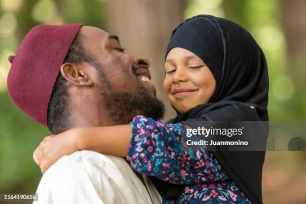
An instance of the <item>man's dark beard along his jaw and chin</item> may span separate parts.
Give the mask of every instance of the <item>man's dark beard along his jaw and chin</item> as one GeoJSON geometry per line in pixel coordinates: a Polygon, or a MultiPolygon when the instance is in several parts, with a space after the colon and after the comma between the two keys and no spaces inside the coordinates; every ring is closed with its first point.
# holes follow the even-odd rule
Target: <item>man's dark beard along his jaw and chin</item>
{"type": "MultiPolygon", "coordinates": [[[[165,109],[158,98],[152,96],[139,82],[136,93],[114,91],[106,75],[99,74],[100,82],[108,88],[103,88],[101,95],[109,117],[118,124],[128,124],[136,115],[143,115],[154,120],[162,119],[165,109]]],[[[104,87],[105,87],[104,86],[104,87]]]]}

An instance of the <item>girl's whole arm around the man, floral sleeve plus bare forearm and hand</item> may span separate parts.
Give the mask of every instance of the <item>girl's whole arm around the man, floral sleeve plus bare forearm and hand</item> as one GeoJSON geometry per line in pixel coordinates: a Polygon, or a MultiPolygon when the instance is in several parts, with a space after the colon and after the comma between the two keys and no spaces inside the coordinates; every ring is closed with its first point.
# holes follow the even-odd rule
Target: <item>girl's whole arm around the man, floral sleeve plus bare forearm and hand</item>
{"type": "Polygon", "coordinates": [[[186,128],[182,124],[165,124],[161,120],[136,116],[127,125],[80,127],[48,136],[33,157],[44,172],[61,156],[88,149],[127,156],[136,171],[173,183],[228,179],[212,153],[182,150],[181,138],[186,128]]]}

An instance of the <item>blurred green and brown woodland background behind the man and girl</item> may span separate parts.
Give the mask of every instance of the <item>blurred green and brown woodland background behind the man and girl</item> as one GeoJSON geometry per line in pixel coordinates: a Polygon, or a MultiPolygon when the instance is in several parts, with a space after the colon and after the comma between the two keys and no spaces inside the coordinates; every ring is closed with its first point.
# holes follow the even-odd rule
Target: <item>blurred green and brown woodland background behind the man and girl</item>
{"type": "MultiPolygon", "coordinates": [[[[50,134],[13,104],[6,88],[7,57],[31,27],[82,22],[117,34],[127,53],[150,59],[152,82],[168,104],[161,85],[167,40],[183,18],[200,13],[236,21],[263,49],[270,120],[306,120],[305,0],[0,0],[0,193],[35,191],[41,173],[32,152],[50,134]]],[[[174,116],[167,108],[166,119],[174,116]]],[[[263,203],[306,203],[305,163],[304,151],[267,152],[263,203]]]]}

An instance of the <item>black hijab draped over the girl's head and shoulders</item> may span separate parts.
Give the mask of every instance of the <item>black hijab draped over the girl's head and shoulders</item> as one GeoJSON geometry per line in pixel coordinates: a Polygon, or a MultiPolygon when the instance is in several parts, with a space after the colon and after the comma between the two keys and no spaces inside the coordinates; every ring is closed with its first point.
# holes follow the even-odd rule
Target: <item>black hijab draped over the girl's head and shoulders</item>
{"type": "MultiPolygon", "coordinates": [[[[216,88],[205,104],[168,121],[197,128],[203,121],[267,121],[268,74],[262,50],[240,25],[211,15],[197,15],[172,32],[166,55],[182,47],[199,56],[212,72],[216,88]]],[[[174,108],[175,109],[175,108],[174,108]]],[[[261,173],[265,151],[212,151],[220,165],[252,203],[262,203],[261,173]]],[[[152,179],[164,198],[183,186],[152,179]]]]}

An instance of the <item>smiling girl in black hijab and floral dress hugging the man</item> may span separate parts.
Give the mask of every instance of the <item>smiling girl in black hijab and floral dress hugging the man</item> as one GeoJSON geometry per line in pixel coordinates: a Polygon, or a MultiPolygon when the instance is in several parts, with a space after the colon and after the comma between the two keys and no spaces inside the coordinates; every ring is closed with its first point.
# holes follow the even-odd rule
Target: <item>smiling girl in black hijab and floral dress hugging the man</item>
{"type": "Polygon", "coordinates": [[[255,40],[232,21],[194,16],[172,32],[165,72],[175,118],[165,123],[137,115],[126,125],[74,128],[45,139],[37,147],[45,155],[35,160],[49,160],[46,169],[89,149],[126,157],[134,170],[153,176],[164,203],[262,203],[264,151],[182,150],[181,143],[187,128],[206,121],[268,120],[267,66],[255,40]]]}

